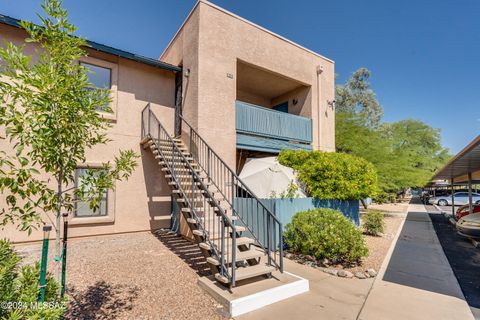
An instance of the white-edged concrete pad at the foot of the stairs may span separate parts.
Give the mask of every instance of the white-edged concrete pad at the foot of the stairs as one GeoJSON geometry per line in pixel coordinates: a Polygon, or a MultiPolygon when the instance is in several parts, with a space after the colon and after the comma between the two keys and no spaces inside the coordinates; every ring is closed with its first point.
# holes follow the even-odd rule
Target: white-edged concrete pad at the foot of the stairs
{"type": "Polygon", "coordinates": [[[199,278],[198,284],[226,308],[230,317],[263,308],[309,290],[308,280],[289,272],[278,271],[272,273],[270,279],[262,276],[239,281],[231,291],[219,284],[213,276],[199,278]]]}

